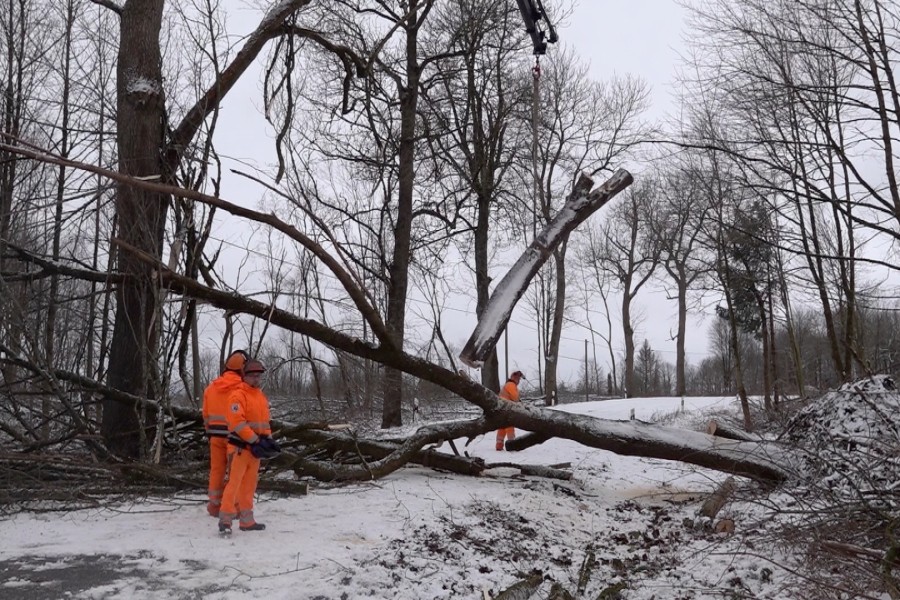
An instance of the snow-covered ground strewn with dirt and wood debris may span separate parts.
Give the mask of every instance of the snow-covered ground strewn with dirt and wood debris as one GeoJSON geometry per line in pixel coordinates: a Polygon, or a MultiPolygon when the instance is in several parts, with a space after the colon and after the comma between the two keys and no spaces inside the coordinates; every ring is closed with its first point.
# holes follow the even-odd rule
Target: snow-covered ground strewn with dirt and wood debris
{"type": "MultiPolygon", "coordinates": [[[[643,398],[562,410],[628,419],[633,408],[652,421],[679,407],[643,398]]],[[[735,399],[688,398],[687,414],[666,424],[724,409],[736,410],[735,399]]],[[[791,597],[791,558],[745,545],[767,526],[754,510],[726,506],[734,534],[697,526],[700,504],[727,475],[566,440],[518,453],[493,446],[490,434],[465,451],[488,463],[571,463],[574,477],[410,466],[370,483],[314,485],[305,497],[263,495],[256,516],[267,529],[230,538],[219,537],[199,494],[18,512],[0,517],[0,598],[483,599],[534,572],[541,587],[516,597],[547,598],[554,583],[573,598],[791,597]]]]}

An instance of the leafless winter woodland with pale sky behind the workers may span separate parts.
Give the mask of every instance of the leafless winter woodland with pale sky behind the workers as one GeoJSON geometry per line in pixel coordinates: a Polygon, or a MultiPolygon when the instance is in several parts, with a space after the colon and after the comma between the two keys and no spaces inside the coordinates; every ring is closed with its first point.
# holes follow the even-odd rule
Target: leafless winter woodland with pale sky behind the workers
{"type": "MultiPolygon", "coordinates": [[[[512,3],[242,5],[253,25],[234,37],[225,3],[6,0],[3,431],[50,444],[99,423],[139,456],[156,415],[133,401],[197,407],[234,347],[269,364],[270,393],[383,427],[460,393],[460,371],[496,390],[513,365],[547,404],[750,393],[767,408],[890,371],[896,9],[686,3],[677,118],[657,122],[645,81],[596,79],[564,41],[537,82],[512,3]],[[217,132],[249,117],[220,109],[254,65],[274,160],[227,167],[217,132]],[[445,308],[465,295],[481,314],[578,175],[622,167],[635,183],[523,297],[533,350],[467,372],[445,308]],[[234,201],[226,173],[256,192],[234,201]],[[660,290],[674,358],[636,335],[660,290]],[[710,316],[697,362],[692,314],[710,316]],[[564,332],[587,339],[560,376],[564,332]]],[[[562,24],[582,8],[548,10],[562,24]]]]}

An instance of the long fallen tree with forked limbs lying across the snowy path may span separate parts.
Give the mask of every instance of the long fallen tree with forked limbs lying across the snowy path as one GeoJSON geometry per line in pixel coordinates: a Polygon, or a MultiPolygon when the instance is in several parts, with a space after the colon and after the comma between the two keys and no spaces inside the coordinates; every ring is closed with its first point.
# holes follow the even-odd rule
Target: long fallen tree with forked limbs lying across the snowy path
{"type": "MultiPolygon", "coordinates": [[[[244,309],[249,314],[259,314],[261,317],[269,318],[274,324],[284,326],[286,329],[309,333],[316,339],[320,337],[316,335],[317,328],[306,329],[304,324],[308,325],[308,321],[298,320],[296,317],[284,314],[280,309],[272,309],[269,305],[251,299],[242,299],[227,292],[204,288],[197,282],[180,278],[168,271],[161,276],[164,280],[172,277],[179,284],[189,286],[197,297],[205,298],[217,306],[237,311],[244,309]],[[199,292],[201,289],[203,290],[202,294],[199,292]]],[[[534,434],[534,437],[529,437],[527,441],[525,440],[526,436],[522,436],[522,440],[510,440],[507,448],[511,450],[521,449],[526,443],[536,443],[559,437],[616,454],[683,461],[733,475],[750,477],[768,484],[780,483],[787,479],[789,474],[785,467],[789,464],[787,456],[778,446],[769,442],[732,441],[705,433],[659,427],[638,421],[608,421],[586,415],[533,407],[521,402],[507,402],[500,400],[496,394],[480,383],[406,352],[374,348],[362,344],[356,339],[344,340],[343,334],[330,329],[327,339],[332,342],[332,345],[352,354],[369,356],[382,364],[440,385],[479,406],[485,411],[485,416],[472,421],[426,425],[398,444],[390,454],[373,462],[366,462],[361,467],[335,467],[315,461],[303,463],[302,468],[317,478],[329,481],[358,481],[383,477],[415,459],[418,452],[428,444],[442,443],[458,438],[474,438],[506,425],[512,425],[534,434]],[[340,340],[344,340],[345,343],[337,343],[340,340]]],[[[14,358],[14,356],[0,356],[0,362],[13,362],[18,366],[33,370],[41,377],[55,377],[69,381],[83,389],[100,393],[107,393],[110,390],[107,386],[81,375],[59,369],[43,370],[27,360],[14,358]]],[[[107,393],[107,397],[132,405],[142,404],[148,409],[160,410],[157,403],[130,394],[107,393]]],[[[187,422],[198,432],[202,431],[199,411],[169,407],[163,409],[161,414],[168,415],[176,422],[187,422]]],[[[277,422],[273,425],[276,429],[290,427],[289,424],[277,422]]],[[[298,460],[301,459],[306,460],[303,457],[298,458],[298,460]]],[[[300,463],[297,465],[299,468],[300,463]]]]}

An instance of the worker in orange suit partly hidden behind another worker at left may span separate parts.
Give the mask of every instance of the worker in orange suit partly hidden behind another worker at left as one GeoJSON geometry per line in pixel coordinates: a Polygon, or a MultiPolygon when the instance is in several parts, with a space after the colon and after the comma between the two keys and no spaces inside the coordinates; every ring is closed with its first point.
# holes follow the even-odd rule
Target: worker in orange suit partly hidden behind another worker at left
{"type": "Polygon", "coordinates": [[[225,491],[225,464],[228,458],[228,396],[243,384],[241,370],[247,353],[235,350],[225,359],[222,374],[213,379],[203,392],[203,426],[209,437],[209,501],[206,511],[219,516],[222,492],[225,491]]]}

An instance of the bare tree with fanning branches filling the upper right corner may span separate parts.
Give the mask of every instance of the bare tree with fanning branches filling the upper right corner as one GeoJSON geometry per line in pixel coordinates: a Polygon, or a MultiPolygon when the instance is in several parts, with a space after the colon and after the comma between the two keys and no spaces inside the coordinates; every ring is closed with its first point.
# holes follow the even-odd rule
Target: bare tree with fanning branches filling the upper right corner
{"type": "Polygon", "coordinates": [[[884,226],[900,214],[896,49],[884,42],[900,23],[896,11],[877,0],[742,0],[692,11],[701,35],[690,87],[714,94],[729,123],[722,137],[698,140],[732,157],[780,215],[779,243],[804,257],[836,379],[847,381],[865,362],[857,296],[871,259],[861,240],[897,239],[884,226]]]}

